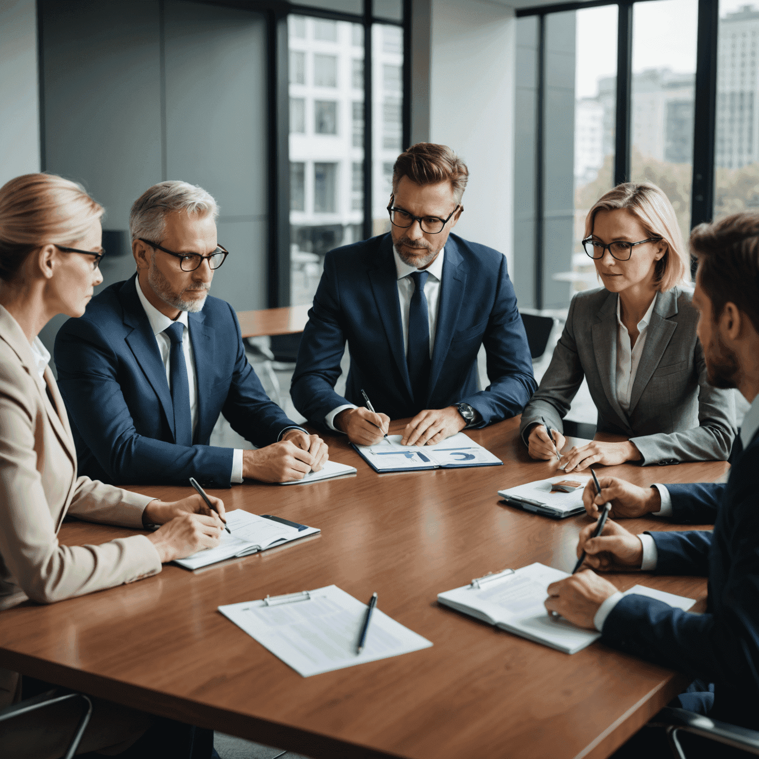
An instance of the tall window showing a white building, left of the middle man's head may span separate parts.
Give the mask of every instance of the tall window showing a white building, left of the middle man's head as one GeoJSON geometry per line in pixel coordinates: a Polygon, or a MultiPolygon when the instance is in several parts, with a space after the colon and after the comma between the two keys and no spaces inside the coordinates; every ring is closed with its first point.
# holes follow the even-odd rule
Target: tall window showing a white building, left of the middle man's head
{"type": "Polygon", "coordinates": [[[408,133],[403,4],[367,3],[381,22],[288,17],[293,305],[313,300],[329,250],[389,228],[392,165],[408,133]]]}

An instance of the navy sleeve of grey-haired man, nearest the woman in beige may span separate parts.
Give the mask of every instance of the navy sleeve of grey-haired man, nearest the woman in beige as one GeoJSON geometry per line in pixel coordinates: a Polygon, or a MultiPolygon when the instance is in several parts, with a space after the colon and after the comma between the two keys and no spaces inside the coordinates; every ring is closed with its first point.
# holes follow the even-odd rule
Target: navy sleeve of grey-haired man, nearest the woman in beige
{"type": "Polygon", "coordinates": [[[121,386],[118,357],[87,320],[71,319],[55,339],[55,366],[71,424],[112,483],[231,482],[231,448],[177,446],[137,433],[121,386]]]}

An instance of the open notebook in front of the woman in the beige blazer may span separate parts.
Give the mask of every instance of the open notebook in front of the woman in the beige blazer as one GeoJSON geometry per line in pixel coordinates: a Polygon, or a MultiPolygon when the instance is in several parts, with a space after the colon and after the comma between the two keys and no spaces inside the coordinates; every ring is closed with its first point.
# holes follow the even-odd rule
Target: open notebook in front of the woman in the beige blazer
{"type": "Polygon", "coordinates": [[[291,527],[271,517],[260,517],[242,509],[227,512],[226,517],[231,534],[222,531],[222,542],[216,548],[198,551],[186,559],[176,559],[175,564],[185,569],[200,569],[209,564],[223,562],[225,559],[248,556],[250,553],[282,546],[291,540],[320,532],[316,527],[307,527],[305,524],[291,527]]]}

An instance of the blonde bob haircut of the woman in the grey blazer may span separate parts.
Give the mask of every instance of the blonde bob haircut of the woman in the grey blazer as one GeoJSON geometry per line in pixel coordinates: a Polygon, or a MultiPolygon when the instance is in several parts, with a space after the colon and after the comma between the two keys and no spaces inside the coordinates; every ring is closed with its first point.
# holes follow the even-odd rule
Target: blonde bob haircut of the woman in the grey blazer
{"type": "Polygon", "coordinates": [[[691,257],[682,242],[675,209],[669,198],[656,184],[625,182],[618,184],[600,197],[585,217],[585,238],[593,234],[593,225],[599,211],[627,209],[646,230],[646,237],[660,237],[667,250],[656,262],[654,282],[657,290],[666,292],[676,285],[691,282],[691,257]]]}

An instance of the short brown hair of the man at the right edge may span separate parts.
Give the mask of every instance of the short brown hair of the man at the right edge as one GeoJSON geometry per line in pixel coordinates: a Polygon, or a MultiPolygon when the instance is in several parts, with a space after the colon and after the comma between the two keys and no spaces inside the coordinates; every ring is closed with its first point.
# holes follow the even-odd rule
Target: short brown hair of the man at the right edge
{"type": "Polygon", "coordinates": [[[759,332],[759,213],[734,213],[715,224],[699,224],[691,231],[691,249],[713,320],[731,302],[759,332]]]}

